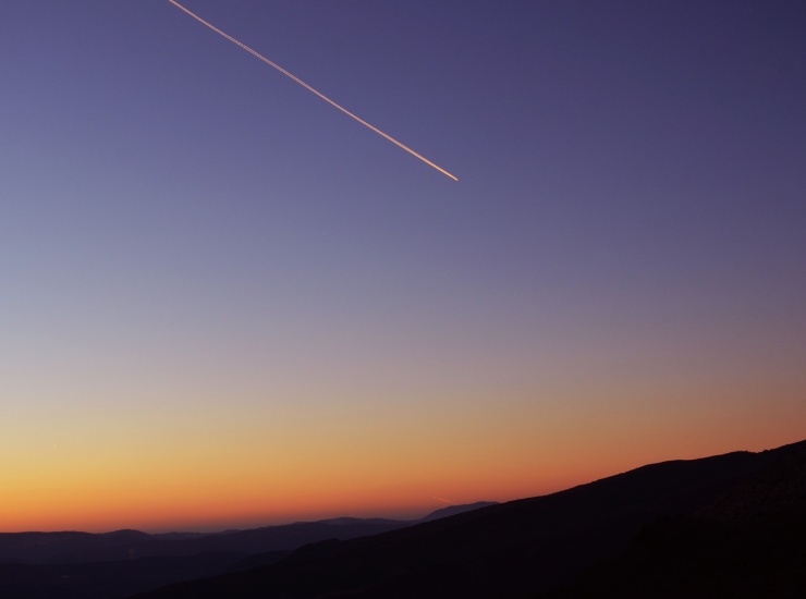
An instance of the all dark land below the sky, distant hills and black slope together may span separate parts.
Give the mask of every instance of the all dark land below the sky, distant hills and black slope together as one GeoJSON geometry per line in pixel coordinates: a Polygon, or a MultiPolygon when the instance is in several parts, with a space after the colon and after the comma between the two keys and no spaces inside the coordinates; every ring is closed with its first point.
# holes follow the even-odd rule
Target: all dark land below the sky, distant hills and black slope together
{"type": "Polygon", "coordinates": [[[803,441],[420,521],[0,535],[0,597],[802,597],[805,539],[803,441]]]}

